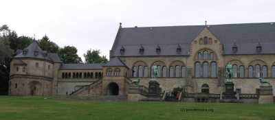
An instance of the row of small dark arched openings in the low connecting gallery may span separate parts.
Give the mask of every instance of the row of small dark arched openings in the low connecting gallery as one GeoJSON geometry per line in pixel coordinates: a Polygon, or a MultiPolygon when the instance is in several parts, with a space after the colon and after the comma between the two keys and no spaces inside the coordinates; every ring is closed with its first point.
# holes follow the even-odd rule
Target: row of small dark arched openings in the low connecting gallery
{"type": "Polygon", "coordinates": [[[74,72],[74,73],[67,73],[67,72],[63,72],[62,73],[62,78],[102,78],[102,75],[103,73],[100,73],[100,72],[96,72],[95,75],[93,72],[89,73],[89,72],[84,72],[84,73],[81,73],[81,72],[74,72]]]}

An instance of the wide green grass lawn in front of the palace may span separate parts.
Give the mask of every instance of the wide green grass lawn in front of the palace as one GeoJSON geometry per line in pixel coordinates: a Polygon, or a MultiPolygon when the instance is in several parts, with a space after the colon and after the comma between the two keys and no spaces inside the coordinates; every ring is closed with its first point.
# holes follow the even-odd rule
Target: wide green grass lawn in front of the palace
{"type": "Polygon", "coordinates": [[[275,104],[63,101],[0,96],[0,119],[275,119],[275,104]],[[189,111],[182,109],[212,109],[189,111]]]}

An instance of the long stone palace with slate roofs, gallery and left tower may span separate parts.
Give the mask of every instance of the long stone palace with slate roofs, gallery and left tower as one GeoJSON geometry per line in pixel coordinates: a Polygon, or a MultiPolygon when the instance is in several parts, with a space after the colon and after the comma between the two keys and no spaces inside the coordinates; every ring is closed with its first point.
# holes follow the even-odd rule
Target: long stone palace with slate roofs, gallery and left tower
{"type": "MultiPolygon", "coordinates": [[[[157,65],[162,91],[225,91],[230,62],[234,90],[259,93],[259,77],[275,86],[274,23],[120,27],[106,64],[63,64],[36,43],[11,62],[9,95],[128,95],[132,80],[148,86],[157,65]]],[[[274,91],[273,91],[274,93],[274,91]]]]}

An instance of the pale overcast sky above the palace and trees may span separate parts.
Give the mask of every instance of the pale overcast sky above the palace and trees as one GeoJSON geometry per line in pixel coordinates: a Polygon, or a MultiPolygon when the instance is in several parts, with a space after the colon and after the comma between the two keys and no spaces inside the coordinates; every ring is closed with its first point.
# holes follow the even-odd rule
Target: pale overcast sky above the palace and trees
{"type": "Polygon", "coordinates": [[[265,0],[1,0],[0,25],[19,36],[45,34],[59,47],[83,53],[100,49],[107,55],[122,27],[155,27],[275,22],[275,1],[265,0]]]}

